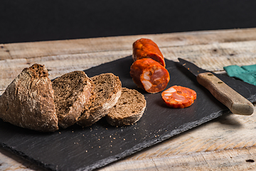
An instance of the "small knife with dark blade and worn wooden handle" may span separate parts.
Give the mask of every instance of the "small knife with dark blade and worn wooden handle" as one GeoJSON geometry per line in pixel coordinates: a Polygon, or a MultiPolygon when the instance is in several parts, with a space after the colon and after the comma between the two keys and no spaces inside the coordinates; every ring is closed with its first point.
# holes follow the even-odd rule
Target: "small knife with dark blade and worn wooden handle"
{"type": "Polygon", "coordinates": [[[230,88],[230,86],[223,83],[223,81],[213,75],[213,73],[203,70],[182,58],[178,58],[178,61],[183,67],[188,69],[188,71],[191,71],[191,73],[196,76],[198,83],[207,88],[210,93],[217,100],[227,106],[232,113],[238,115],[252,115],[254,111],[252,103],[233,90],[233,88],[230,88]]]}

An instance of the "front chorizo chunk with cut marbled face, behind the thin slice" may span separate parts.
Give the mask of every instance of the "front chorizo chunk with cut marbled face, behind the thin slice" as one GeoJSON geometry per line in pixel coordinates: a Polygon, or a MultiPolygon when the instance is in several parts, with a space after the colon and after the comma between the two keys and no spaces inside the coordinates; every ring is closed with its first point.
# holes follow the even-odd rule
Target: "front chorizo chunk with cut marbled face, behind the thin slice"
{"type": "Polygon", "coordinates": [[[151,58],[135,61],[130,68],[130,75],[134,83],[148,93],[164,90],[170,81],[166,68],[151,58]]]}

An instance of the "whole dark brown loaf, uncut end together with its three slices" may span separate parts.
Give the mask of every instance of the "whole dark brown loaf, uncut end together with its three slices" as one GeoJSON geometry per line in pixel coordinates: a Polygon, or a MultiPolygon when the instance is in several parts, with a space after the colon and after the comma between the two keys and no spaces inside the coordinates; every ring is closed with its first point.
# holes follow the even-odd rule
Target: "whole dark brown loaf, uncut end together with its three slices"
{"type": "Polygon", "coordinates": [[[122,88],[113,73],[88,78],[83,71],[73,71],[51,82],[40,64],[24,68],[0,96],[2,120],[42,132],[75,123],[90,126],[105,115],[110,125],[131,125],[145,108],[144,95],[122,88]]]}

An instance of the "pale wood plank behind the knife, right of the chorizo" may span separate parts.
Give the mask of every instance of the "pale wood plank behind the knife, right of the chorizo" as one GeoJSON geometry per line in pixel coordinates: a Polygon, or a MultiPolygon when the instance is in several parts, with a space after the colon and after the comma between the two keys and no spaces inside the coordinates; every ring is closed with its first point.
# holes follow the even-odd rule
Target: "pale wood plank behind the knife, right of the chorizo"
{"type": "Polygon", "coordinates": [[[208,71],[221,71],[223,66],[256,64],[256,41],[212,43],[205,45],[161,48],[165,58],[185,58],[208,71]]]}

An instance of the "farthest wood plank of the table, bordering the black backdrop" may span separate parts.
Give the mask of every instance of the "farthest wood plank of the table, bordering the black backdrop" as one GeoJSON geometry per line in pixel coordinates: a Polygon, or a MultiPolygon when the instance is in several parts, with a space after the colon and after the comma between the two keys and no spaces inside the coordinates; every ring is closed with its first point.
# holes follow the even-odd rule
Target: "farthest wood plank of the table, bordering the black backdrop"
{"type": "MultiPolygon", "coordinates": [[[[2,47],[9,51],[10,56],[8,56],[8,58],[35,58],[41,56],[57,56],[63,54],[91,53],[99,51],[131,50],[132,43],[142,37],[151,38],[159,45],[160,48],[209,43],[255,41],[256,28],[86,38],[65,41],[9,43],[2,45],[2,47]]],[[[0,58],[0,60],[1,59],[3,58],[0,58]]]]}

